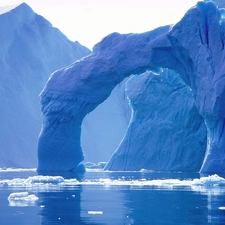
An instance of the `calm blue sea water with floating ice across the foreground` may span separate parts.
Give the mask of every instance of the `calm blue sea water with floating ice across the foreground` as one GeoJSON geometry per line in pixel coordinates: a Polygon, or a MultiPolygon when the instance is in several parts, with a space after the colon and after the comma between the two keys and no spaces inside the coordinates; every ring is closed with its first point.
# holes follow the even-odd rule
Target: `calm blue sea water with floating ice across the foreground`
{"type": "Polygon", "coordinates": [[[0,169],[1,225],[225,224],[225,179],[198,173],[38,175],[0,169]]]}

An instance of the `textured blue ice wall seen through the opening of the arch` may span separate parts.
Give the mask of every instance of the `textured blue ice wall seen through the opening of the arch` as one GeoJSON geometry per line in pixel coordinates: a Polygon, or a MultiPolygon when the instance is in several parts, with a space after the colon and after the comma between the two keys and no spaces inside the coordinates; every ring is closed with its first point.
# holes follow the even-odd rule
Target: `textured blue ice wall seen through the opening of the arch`
{"type": "Polygon", "coordinates": [[[134,76],[126,94],[132,120],[105,169],[199,171],[206,128],[179,74],[165,69],[159,76],[134,76]]]}

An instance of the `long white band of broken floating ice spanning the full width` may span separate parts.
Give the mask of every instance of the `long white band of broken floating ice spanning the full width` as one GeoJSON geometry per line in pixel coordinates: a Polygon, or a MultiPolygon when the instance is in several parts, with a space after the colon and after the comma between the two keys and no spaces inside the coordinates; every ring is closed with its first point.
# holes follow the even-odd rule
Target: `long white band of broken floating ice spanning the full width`
{"type": "Polygon", "coordinates": [[[188,188],[193,191],[206,191],[213,188],[222,188],[225,186],[225,179],[218,175],[211,175],[208,177],[201,177],[200,179],[155,179],[147,180],[145,178],[139,180],[125,180],[125,179],[86,179],[78,181],[77,179],[64,179],[61,176],[32,176],[26,179],[14,178],[11,180],[0,180],[0,186],[8,186],[10,188],[25,188],[25,189],[61,189],[65,187],[76,186],[126,186],[126,188],[163,188],[163,189],[180,189],[188,188]]]}

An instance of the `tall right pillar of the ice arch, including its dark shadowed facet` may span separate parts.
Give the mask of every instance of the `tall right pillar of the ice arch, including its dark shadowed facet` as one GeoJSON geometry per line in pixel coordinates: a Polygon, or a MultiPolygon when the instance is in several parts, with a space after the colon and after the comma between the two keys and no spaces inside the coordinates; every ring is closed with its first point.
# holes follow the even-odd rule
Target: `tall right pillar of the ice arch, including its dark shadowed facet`
{"type": "Polygon", "coordinates": [[[213,2],[198,2],[152,43],[152,63],[177,71],[191,88],[207,127],[200,171],[225,172],[225,20],[213,2]]]}

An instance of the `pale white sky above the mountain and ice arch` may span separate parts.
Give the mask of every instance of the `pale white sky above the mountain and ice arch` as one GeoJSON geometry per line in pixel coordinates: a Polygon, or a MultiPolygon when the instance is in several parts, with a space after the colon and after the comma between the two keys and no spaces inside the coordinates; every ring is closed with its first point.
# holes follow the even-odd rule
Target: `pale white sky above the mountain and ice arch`
{"type": "Polygon", "coordinates": [[[141,33],[178,22],[197,0],[0,0],[0,7],[26,2],[71,41],[92,49],[112,33],[141,33]]]}

